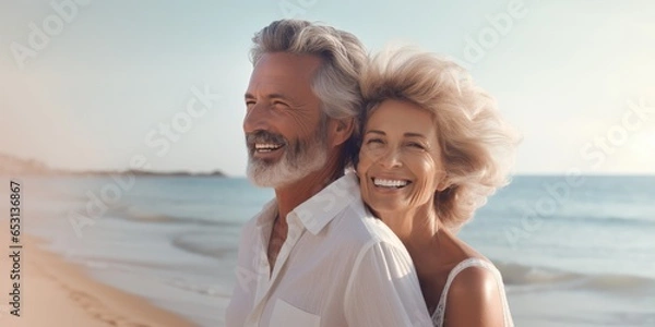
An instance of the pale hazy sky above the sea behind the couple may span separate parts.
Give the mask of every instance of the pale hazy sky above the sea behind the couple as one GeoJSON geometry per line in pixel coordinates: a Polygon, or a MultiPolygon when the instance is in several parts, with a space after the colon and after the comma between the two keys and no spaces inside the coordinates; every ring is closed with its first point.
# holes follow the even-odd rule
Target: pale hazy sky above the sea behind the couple
{"type": "Polygon", "coordinates": [[[250,39],[294,15],[467,66],[523,134],[517,173],[655,173],[652,1],[72,1],[0,2],[0,153],[243,175],[250,39]]]}

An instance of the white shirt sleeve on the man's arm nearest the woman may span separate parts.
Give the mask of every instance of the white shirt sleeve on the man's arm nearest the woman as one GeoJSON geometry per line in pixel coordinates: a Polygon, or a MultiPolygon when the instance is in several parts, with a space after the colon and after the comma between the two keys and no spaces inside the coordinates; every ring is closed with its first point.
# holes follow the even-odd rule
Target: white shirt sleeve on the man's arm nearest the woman
{"type": "Polygon", "coordinates": [[[432,326],[409,254],[385,242],[359,253],[344,305],[348,326],[432,326]]]}

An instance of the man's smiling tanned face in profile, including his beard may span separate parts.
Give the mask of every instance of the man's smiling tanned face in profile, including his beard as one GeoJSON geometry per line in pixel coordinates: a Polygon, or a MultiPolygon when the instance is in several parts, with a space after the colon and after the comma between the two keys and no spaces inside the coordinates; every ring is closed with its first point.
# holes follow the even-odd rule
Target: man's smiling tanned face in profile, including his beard
{"type": "Polygon", "coordinates": [[[321,169],[326,161],[326,117],[311,89],[321,65],[314,56],[266,53],[246,92],[243,132],[248,177],[279,187],[321,169]]]}

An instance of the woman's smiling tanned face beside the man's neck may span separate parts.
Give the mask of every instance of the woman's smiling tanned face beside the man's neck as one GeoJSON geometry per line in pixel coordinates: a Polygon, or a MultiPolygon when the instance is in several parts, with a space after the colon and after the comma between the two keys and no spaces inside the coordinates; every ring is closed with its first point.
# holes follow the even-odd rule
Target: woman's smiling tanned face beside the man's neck
{"type": "Polygon", "coordinates": [[[431,113],[407,101],[381,102],[366,122],[357,174],[378,216],[429,204],[445,177],[431,113]]]}

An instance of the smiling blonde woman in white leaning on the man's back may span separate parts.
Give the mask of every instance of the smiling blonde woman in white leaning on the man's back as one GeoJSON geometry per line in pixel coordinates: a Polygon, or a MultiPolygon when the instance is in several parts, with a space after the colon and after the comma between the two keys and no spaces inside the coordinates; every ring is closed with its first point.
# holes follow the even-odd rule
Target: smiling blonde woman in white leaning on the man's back
{"type": "Polygon", "coordinates": [[[361,196],[412,255],[434,326],[513,326],[500,272],[455,235],[511,166],[516,138],[492,98],[408,49],[372,59],[361,88],[361,196]]]}

